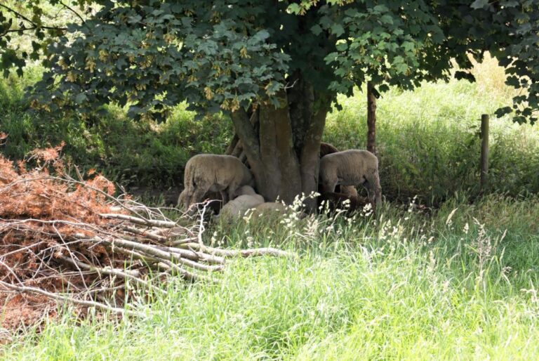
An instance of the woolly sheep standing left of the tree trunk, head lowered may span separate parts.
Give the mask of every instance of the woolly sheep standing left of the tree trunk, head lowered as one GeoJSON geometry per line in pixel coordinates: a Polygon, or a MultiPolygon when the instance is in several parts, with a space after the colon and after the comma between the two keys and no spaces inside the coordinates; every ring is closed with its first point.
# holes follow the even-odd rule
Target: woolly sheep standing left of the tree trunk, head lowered
{"type": "Polygon", "coordinates": [[[195,155],[185,164],[185,190],[178,205],[189,209],[199,203],[207,192],[220,192],[222,203],[233,199],[241,185],[254,186],[251,171],[231,155],[195,155]]]}

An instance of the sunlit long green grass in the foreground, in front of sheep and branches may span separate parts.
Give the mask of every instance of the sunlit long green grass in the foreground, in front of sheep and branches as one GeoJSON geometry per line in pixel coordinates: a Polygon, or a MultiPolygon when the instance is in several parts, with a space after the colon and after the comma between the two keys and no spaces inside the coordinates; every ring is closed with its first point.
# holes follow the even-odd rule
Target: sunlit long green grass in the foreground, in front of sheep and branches
{"type": "Polygon", "coordinates": [[[68,312],[18,336],[4,357],[534,360],[538,218],[539,199],[493,196],[448,202],[431,217],[387,209],[376,224],[340,215],[289,228],[215,225],[207,242],[299,257],[233,261],[217,285],[174,281],[140,304],[141,319],[79,324],[68,312]]]}

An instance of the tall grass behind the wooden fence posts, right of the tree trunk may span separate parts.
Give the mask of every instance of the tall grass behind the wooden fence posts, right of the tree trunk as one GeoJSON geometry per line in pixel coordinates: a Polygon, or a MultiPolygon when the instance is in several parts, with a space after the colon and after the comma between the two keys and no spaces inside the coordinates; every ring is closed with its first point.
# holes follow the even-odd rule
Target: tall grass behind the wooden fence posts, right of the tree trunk
{"type": "MultiPolygon", "coordinates": [[[[382,191],[390,199],[439,204],[455,192],[479,192],[479,119],[491,114],[487,192],[517,196],[539,192],[539,131],[493,116],[517,91],[487,58],[476,65],[477,83],[452,80],[415,91],[392,88],[378,100],[377,142],[382,191]]],[[[325,140],[340,149],[366,147],[366,94],[340,98],[325,140]]]]}

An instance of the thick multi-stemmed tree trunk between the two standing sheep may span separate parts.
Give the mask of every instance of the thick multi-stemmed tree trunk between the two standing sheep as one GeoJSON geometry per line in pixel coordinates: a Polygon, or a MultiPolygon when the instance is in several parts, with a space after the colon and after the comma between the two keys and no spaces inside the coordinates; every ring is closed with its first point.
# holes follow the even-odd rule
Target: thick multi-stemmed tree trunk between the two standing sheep
{"type": "MultiPolygon", "coordinates": [[[[297,195],[310,195],[318,188],[320,143],[331,98],[317,98],[307,81],[300,76],[298,80],[293,88],[281,91],[279,107],[258,105],[253,112],[258,129],[245,110],[232,113],[257,191],[266,201],[291,204],[297,195]]],[[[314,211],[316,200],[307,199],[305,207],[314,211]]]]}

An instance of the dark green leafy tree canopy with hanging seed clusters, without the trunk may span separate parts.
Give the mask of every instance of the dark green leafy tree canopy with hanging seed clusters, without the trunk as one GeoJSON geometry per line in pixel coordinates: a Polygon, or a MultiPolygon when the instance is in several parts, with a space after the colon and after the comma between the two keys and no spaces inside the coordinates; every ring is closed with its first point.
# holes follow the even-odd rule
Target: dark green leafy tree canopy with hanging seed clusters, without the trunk
{"type": "MultiPolygon", "coordinates": [[[[199,112],[234,112],[251,103],[279,103],[294,74],[334,99],[372,79],[418,86],[472,79],[468,54],[489,51],[507,70],[507,84],[525,88],[512,106],[517,122],[535,122],[539,107],[539,6],[536,1],[111,1],[29,0],[27,13],[0,7],[1,66],[17,67],[44,53],[48,71],[34,104],[57,110],[130,105],[154,117],[184,100],[199,112]],[[76,8],[66,27],[47,24],[44,4],[76,8]],[[10,46],[12,33],[32,32],[33,51],[10,46]],[[51,96],[51,93],[53,96],[51,96]]],[[[6,74],[4,72],[4,74],[6,74]]],[[[297,77],[296,77],[297,78],[297,77]]]]}

